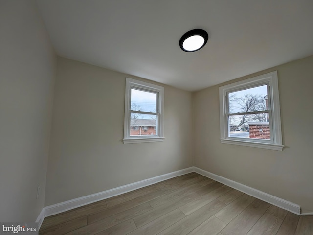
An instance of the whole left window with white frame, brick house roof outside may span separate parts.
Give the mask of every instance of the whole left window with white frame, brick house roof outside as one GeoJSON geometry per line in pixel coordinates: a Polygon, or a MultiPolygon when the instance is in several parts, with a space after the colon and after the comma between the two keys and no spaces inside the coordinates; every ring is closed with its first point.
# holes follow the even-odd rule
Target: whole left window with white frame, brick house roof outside
{"type": "Polygon", "coordinates": [[[126,78],[124,144],[163,141],[163,107],[164,87],[126,78]]]}

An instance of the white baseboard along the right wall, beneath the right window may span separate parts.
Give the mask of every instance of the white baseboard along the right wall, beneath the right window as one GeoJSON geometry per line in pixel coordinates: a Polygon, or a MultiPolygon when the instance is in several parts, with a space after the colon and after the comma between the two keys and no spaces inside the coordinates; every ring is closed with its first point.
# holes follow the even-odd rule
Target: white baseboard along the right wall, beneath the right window
{"type": "MultiPolygon", "coordinates": [[[[215,181],[218,181],[220,183],[223,183],[229,187],[232,187],[234,189],[237,189],[245,194],[248,194],[250,196],[253,196],[253,197],[256,197],[262,201],[266,201],[272,205],[275,205],[277,207],[280,207],[282,209],[285,209],[287,211],[290,211],[294,214],[297,214],[297,215],[301,215],[300,213],[300,206],[295,204],[295,203],[292,203],[290,201],[286,201],[282,198],[279,198],[277,196],[273,196],[273,195],[270,195],[270,194],[267,194],[267,193],[264,193],[260,190],[257,190],[257,189],[254,189],[254,188],[251,188],[249,186],[246,186],[244,184],[241,184],[241,183],[238,183],[238,182],[235,182],[233,180],[230,180],[230,179],[227,179],[227,178],[224,178],[222,176],[218,176],[218,175],[215,175],[211,172],[208,172],[208,171],[205,171],[205,170],[202,170],[198,167],[194,167],[194,171],[202,176],[206,176],[208,178],[211,178],[211,179],[214,179],[215,181]]],[[[303,215],[303,214],[302,214],[303,215]]]]}

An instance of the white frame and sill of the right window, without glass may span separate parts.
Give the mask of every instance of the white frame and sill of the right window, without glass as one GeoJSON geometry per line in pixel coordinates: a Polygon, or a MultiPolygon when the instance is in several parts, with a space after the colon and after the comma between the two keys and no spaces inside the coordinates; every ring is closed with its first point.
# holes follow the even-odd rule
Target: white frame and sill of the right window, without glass
{"type": "Polygon", "coordinates": [[[224,144],[283,150],[277,71],[220,87],[220,132],[224,144]],[[270,140],[228,137],[228,93],[261,85],[268,85],[270,140]]]}

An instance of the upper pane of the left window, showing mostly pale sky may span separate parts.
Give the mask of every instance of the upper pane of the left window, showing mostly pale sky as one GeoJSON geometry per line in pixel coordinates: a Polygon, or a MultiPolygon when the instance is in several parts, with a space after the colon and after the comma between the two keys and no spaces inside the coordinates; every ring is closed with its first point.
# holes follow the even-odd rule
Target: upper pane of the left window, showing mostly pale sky
{"type": "Polygon", "coordinates": [[[157,94],[137,89],[131,89],[131,110],[156,113],[157,94]]]}

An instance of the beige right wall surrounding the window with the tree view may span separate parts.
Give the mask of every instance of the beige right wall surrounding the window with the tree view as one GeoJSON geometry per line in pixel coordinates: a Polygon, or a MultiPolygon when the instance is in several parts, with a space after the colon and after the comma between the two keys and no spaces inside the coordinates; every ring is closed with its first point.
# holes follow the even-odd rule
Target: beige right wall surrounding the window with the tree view
{"type": "Polygon", "coordinates": [[[313,212],[313,56],[233,81],[275,70],[283,151],[220,143],[219,86],[227,82],[193,94],[194,163],[313,212]]]}

